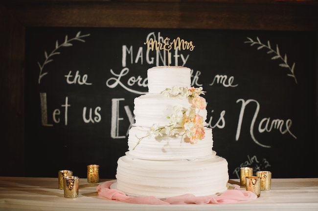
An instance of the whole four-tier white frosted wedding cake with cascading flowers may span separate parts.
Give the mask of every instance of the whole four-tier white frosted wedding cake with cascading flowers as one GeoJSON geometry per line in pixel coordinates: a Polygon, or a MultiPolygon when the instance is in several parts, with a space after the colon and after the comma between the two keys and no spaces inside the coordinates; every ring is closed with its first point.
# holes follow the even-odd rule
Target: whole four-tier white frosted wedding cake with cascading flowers
{"type": "Polygon", "coordinates": [[[227,190],[227,160],[212,151],[202,88],[186,67],[148,70],[149,93],[135,98],[129,152],[118,159],[116,189],[158,198],[227,190]]]}

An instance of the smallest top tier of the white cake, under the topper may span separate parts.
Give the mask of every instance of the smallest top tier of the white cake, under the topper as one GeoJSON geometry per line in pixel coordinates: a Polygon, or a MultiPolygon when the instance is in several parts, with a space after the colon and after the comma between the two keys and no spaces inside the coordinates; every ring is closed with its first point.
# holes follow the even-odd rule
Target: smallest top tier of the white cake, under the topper
{"type": "Polygon", "coordinates": [[[190,87],[191,70],[181,66],[159,66],[148,69],[148,90],[150,94],[159,94],[173,86],[190,87]]]}

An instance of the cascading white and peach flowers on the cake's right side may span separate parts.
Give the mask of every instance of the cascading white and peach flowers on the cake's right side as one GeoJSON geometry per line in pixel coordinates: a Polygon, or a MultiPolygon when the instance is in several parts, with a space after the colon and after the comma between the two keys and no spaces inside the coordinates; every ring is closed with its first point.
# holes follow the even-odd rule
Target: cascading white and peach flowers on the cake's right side
{"type": "Polygon", "coordinates": [[[163,135],[175,135],[177,137],[181,136],[182,140],[182,137],[185,135],[189,138],[191,144],[195,144],[198,140],[202,140],[205,134],[203,125],[204,119],[199,115],[199,110],[206,108],[206,101],[204,97],[200,96],[201,94],[204,95],[204,93],[202,87],[172,87],[171,89],[167,88],[162,91],[160,94],[166,97],[178,97],[180,99],[190,97],[195,108],[174,106],[173,114],[167,116],[167,118],[170,119],[169,124],[165,126],[153,124],[146,136],[138,138],[136,146],[143,138],[148,136],[158,137],[163,135]]]}

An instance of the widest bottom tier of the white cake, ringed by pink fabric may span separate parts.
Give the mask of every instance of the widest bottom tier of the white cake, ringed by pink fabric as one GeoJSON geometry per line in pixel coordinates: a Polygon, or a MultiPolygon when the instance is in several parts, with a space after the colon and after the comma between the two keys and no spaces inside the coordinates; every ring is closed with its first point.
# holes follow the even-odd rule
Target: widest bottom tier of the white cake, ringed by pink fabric
{"type": "Polygon", "coordinates": [[[210,155],[193,160],[144,160],[129,153],[118,159],[116,189],[132,196],[168,198],[227,190],[227,160],[210,155]]]}

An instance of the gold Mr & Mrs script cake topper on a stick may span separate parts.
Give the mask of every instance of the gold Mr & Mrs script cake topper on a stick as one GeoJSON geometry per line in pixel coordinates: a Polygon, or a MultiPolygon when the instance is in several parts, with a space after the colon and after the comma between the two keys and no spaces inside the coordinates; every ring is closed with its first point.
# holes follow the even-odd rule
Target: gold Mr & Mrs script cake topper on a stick
{"type": "Polygon", "coordinates": [[[176,50],[177,48],[179,48],[179,51],[181,50],[190,50],[193,51],[194,49],[194,45],[192,43],[192,41],[186,41],[184,39],[181,38],[176,38],[173,39],[171,42],[169,42],[170,38],[165,38],[163,40],[163,43],[154,40],[153,38],[148,39],[146,42],[144,42],[144,45],[147,45],[147,51],[149,51],[149,48],[151,48],[151,50],[153,51],[154,49],[156,51],[158,50],[165,50],[168,52],[168,66],[170,66],[170,58],[169,58],[169,51],[171,49],[176,50]]]}

